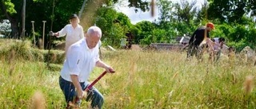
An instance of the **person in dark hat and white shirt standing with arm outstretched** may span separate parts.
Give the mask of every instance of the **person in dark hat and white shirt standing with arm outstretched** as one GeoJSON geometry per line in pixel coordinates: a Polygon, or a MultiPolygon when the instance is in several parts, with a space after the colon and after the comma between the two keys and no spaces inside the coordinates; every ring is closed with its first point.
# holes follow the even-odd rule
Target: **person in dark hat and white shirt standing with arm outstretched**
{"type": "Polygon", "coordinates": [[[70,45],[84,38],[83,28],[81,25],[79,25],[79,22],[80,20],[78,18],[78,15],[72,14],[70,16],[70,24],[65,25],[63,29],[61,29],[57,33],[52,33],[51,35],[56,37],[66,36],[65,53],[70,45]]]}

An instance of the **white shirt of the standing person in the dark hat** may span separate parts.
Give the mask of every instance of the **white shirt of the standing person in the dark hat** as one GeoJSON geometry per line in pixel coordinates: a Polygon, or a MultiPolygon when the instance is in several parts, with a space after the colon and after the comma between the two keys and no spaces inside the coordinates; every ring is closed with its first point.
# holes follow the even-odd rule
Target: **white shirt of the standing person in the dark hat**
{"type": "Polygon", "coordinates": [[[64,37],[66,35],[65,51],[70,47],[70,45],[73,45],[75,42],[81,40],[84,37],[81,25],[73,28],[72,25],[68,24],[58,33],[58,37],[64,37]]]}

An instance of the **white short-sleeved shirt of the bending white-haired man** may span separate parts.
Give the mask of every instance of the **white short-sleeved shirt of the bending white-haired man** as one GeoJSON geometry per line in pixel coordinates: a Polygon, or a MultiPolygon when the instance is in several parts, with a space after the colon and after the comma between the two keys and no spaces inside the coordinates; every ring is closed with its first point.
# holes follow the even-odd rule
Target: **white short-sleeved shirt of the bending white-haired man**
{"type": "Polygon", "coordinates": [[[70,75],[77,75],[79,82],[86,82],[99,60],[98,51],[98,45],[94,49],[88,48],[86,38],[71,45],[61,71],[62,78],[71,81],[70,75]]]}

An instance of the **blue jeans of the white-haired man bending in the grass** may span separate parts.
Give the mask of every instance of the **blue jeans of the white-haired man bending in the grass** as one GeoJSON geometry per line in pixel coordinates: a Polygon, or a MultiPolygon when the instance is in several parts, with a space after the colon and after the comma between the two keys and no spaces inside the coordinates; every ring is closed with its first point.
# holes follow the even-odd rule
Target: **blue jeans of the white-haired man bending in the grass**
{"type": "MultiPolygon", "coordinates": [[[[82,82],[80,83],[83,90],[86,89],[86,87],[90,83],[82,82]]],[[[75,91],[74,84],[72,82],[64,80],[62,76],[59,77],[59,86],[62,89],[63,94],[65,95],[66,103],[73,102],[74,98],[76,97],[77,92],[75,91]]],[[[104,103],[103,95],[98,91],[97,88],[90,88],[90,91],[88,91],[86,97],[86,101],[91,100],[91,107],[101,109],[102,105],[104,103]]],[[[78,101],[78,104],[81,101],[78,101]]]]}

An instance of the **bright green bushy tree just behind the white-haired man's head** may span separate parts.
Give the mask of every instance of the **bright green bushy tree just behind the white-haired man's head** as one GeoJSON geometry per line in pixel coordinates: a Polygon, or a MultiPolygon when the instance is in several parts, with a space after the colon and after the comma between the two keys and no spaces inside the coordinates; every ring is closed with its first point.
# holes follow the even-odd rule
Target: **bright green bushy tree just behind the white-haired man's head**
{"type": "Polygon", "coordinates": [[[130,19],[112,7],[102,7],[97,11],[96,25],[102,29],[105,45],[120,47],[121,39],[130,31],[130,19]]]}

